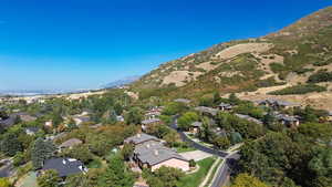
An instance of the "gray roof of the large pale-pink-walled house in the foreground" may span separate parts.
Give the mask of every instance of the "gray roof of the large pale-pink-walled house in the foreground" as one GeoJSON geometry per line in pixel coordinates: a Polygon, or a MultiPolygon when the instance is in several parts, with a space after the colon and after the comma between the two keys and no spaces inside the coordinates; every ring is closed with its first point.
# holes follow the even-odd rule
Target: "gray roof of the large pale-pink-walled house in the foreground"
{"type": "Polygon", "coordinates": [[[160,143],[146,142],[136,146],[134,153],[142,163],[148,164],[149,166],[154,166],[172,158],[187,162],[187,159],[180,156],[178,153],[165,147],[160,143]]]}

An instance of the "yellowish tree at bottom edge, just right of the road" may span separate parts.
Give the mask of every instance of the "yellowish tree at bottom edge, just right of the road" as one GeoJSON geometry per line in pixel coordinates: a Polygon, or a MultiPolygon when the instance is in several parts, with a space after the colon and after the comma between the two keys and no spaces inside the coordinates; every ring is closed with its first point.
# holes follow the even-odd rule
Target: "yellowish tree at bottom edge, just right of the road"
{"type": "Polygon", "coordinates": [[[231,187],[268,187],[268,185],[248,174],[239,174],[231,187]]]}

